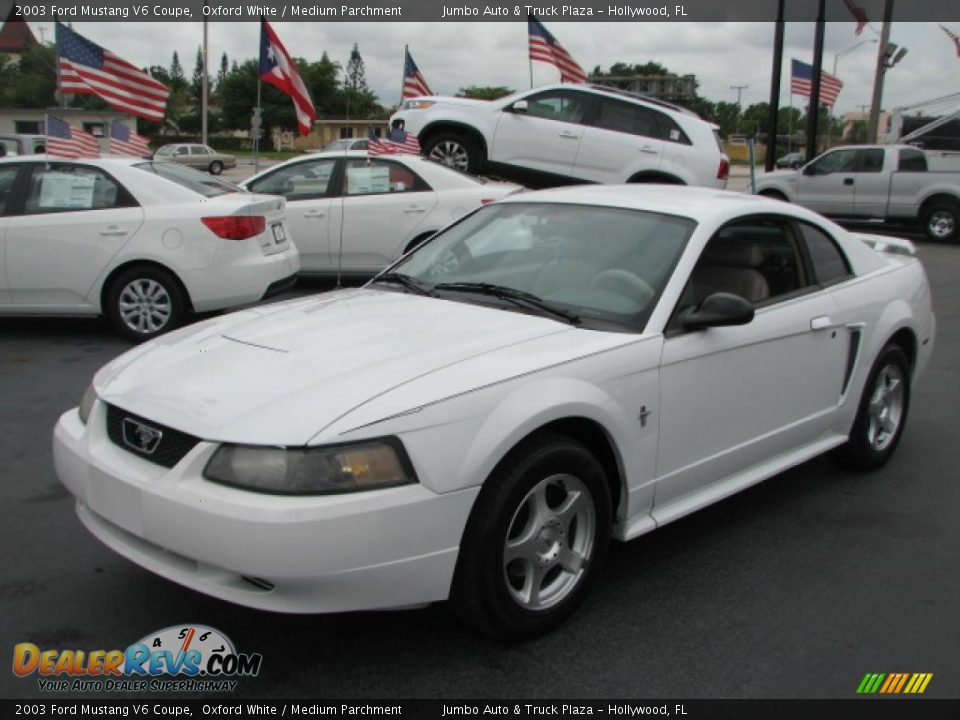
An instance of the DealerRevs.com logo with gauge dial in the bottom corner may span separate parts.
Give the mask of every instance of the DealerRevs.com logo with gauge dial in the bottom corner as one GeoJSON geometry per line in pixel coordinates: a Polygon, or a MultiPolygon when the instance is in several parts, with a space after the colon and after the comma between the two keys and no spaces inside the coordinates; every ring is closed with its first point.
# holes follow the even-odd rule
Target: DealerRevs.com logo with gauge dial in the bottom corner
{"type": "Polygon", "coordinates": [[[37,675],[42,692],[231,692],[260,672],[260,653],[238,653],[206,625],[174,625],[126,650],[13,648],[13,672],[37,675]]]}

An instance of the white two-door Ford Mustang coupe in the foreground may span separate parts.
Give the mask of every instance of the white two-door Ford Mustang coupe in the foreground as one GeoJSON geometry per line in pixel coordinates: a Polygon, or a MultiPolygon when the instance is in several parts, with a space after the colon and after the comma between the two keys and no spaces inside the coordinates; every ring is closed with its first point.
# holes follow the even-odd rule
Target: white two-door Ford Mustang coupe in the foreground
{"type": "Polygon", "coordinates": [[[510,637],[629,540],[831,450],[894,452],[935,323],[910,243],[686,187],[512,196],[365,287],[119,357],[56,426],[81,521],[210,595],[450,599],[510,637]]]}

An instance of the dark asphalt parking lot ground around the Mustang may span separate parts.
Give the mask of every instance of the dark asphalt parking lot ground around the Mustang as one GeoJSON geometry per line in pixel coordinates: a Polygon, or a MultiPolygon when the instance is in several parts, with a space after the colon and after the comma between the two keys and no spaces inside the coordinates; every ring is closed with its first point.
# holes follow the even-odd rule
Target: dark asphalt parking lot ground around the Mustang
{"type": "MultiPolygon", "coordinates": [[[[522,645],[464,628],[443,605],[247,610],[107,550],[57,481],[50,437],[130,346],[97,320],[0,319],[0,649],[125,648],[201,623],[263,654],[240,697],[851,698],[865,673],[895,671],[932,672],[928,697],[960,697],[960,247],[923,244],[920,257],[937,347],[885,469],[818,459],[615,544],[572,621],[522,645]]],[[[39,695],[36,676],[0,673],[0,696],[39,695]]]]}

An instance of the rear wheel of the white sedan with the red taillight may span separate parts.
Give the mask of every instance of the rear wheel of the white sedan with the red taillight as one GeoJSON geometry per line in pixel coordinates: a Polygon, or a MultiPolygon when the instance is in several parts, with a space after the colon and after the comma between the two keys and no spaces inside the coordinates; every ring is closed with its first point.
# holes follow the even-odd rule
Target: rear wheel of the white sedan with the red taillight
{"type": "Polygon", "coordinates": [[[110,283],[104,312],[114,329],[128,340],[143,342],[175,328],[186,300],[180,284],[166,270],[131,267],[110,283]]]}

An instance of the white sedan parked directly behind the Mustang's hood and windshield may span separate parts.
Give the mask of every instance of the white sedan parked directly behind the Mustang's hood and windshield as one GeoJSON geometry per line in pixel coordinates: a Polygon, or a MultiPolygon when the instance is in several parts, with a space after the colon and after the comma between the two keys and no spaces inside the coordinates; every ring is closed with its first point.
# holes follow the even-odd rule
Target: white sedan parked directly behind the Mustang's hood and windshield
{"type": "Polygon", "coordinates": [[[302,272],[372,275],[482,204],[522,188],[418,155],[311,153],[241,183],[282,195],[302,272]]]}

